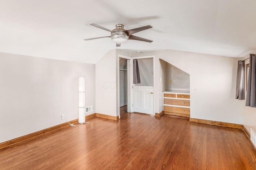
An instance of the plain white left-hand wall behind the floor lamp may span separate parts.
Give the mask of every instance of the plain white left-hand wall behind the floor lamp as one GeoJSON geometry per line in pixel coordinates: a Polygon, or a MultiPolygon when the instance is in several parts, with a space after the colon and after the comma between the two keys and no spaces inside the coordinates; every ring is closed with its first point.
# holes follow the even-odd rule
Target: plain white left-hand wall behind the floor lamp
{"type": "Polygon", "coordinates": [[[95,64],[0,53],[0,143],[78,119],[79,76],[95,106],[95,64]]]}

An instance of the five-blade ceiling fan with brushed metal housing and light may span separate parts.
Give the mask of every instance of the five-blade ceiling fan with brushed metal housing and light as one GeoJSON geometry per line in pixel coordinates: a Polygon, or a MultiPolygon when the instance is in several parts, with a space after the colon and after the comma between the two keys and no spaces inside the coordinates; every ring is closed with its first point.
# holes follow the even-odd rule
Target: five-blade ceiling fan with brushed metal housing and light
{"type": "MultiPolygon", "coordinates": [[[[138,41],[145,41],[151,43],[151,40],[144,39],[141,37],[134,36],[132,34],[143,31],[145,29],[152,28],[150,25],[144,26],[144,27],[138,27],[134,29],[124,29],[123,24],[116,24],[116,29],[113,29],[112,31],[110,29],[104,28],[100,25],[97,25],[95,23],[90,24],[94,27],[104,29],[106,31],[110,31],[111,35],[107,37],[111,37],[112,41],[116,43],[116,47],[120,47],[122,43],[125,43],[128,41],[128,39],[133,39],[133,40],[138,40],[138,41]]],[[[84,39],[85,41],[92,40],[92,39],[99,39],[99,38],[105,38],[105,37],[96,37],[96,38],[89,38],[89,39],[84,39]]]]}

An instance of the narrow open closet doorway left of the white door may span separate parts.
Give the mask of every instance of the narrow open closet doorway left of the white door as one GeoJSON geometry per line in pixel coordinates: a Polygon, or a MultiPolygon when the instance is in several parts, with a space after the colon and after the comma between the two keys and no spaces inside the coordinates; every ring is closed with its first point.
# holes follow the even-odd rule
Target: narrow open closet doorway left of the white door
{"type": "Polygon", "coordinates": [[[131,112],[131,66],[129,57],[119,56],[119,115],[131,112]]]}

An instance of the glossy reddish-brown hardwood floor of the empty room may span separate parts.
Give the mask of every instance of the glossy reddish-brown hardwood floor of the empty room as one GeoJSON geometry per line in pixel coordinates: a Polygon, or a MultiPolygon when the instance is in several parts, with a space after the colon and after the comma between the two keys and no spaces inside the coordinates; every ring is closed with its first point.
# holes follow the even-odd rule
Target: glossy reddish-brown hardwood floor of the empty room
{"type": "Polygon", "coordinates": [[[122,113],[0,150],[0,170],[256,170],[240,129],[122,113]]]}

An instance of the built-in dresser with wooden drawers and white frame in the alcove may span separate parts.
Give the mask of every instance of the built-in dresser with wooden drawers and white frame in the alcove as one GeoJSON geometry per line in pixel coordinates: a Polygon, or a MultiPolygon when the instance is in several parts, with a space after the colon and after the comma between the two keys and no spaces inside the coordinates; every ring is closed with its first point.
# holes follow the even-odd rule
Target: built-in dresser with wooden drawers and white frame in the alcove
{"type": "Polygon", "coordinates": [[[166,90],[163,92],[164,114],[190,117],[190,92],[166,90]]]}

